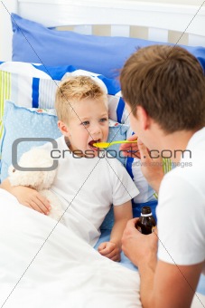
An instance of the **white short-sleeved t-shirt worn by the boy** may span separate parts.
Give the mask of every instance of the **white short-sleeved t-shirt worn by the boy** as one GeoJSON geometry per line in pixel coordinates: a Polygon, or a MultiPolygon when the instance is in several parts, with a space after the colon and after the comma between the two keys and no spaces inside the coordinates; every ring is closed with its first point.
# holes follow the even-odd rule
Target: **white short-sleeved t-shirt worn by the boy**
{"type": "MultiPolygon", "coordinates": [[[[61,198],[63,209],[67,209],[65,225],[95,245],[100,236],[99,226],[111,205],[122,205],[138,195],[139,190],[126,168],[106,151],[101,152],[101,156],[106,154],[104,158],[79,158],[70,152],[63,136],[56,141],[58,150],[52,152],[52,157],[61,158],[51,190],[61,198]]],[[[42,148],[51,150],[51,143],[42,148]]]]}

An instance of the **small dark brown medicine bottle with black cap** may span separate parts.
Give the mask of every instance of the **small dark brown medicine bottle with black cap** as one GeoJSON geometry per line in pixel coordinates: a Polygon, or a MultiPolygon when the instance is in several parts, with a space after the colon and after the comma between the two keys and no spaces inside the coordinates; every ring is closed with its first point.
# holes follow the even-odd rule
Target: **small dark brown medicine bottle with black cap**
{"type": "Polygon", "coordinates": [[[144,235],[149,235],[154,232],[154,227],[156,226],[155,219],[153,217],[150,207],[142,207],[141,217],[139,217],[135,227],[139,232],[144,235]]]}

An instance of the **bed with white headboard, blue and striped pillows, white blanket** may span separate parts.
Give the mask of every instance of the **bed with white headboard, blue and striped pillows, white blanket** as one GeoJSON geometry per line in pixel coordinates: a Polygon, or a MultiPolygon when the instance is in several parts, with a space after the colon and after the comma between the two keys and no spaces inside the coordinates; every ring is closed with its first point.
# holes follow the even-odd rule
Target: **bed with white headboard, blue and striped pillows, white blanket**
{"type": "MultiPolygon", "coordinates": [[[[89,74],[106,84],[109,116],[115,121],[110,125],[110,132],[116,136],[116,140],[126,140],[133,132],[127,120],[117,75],[135,48],[153,43],[181,44],[199,59],[205,70],[205,7],[202,1],[200,5],[165,5],[134,0],[11,0],[1,1],[0,5],[1,124],[4,114],[4,126],[1,125],[2,180],[7,176],[7,168],[12,160],[11,145],[14,140],[49,137],[50,129],[52,138],[59,137],[54,128],[56,119],[53,114],[53,98],[59,82],[68,74],[89,74]],[[119,130],[117,126],[118,135],[116,123],[120,127],[119,130]],[[45,125],[48,125],[48,129],[45,125]]],[[[21,144],[19,156],[27,149],[28,142],[21,144]]],[[[154,191],[144,181],[140,165],[132,159],[122,159],[121,162],[136,186],[144,191],[133,202],[134,216],[139,215],[144,204],[151,206],[154,211],[157,203],[154,191]]],[[[7,212],[0,215],[2,228],[7,227],[5,221],[9,210],[14,211],[22,225],[10,217],[10,232],[2,238],[4,242],[6,239],[10,247],[6,246],[10,257],[7,263],[2,264],[6,271],[0,303],[4,303],[5,307],[26,307],[28,303],[30,307],[140,306],[139,277],[135,266],[125,255],[122,254],[120,265],[105,261],[74,234],[69,234],[63,226],[55,227],[50,219],[38,219],[36,213],[27,214],[24,208],[17,213],[13,198],[7,212]],[[24,211],[29,216],[30,225],[24,219],[24,211]],[[44,225],[43,229],[41,224],[44,225]],[[40,231],[36,231],[35,226],[39,226],[40,231]],[[11,233],[17,243],[23,227],[28,227],[36,241],[27,248],[25,238],[22,245],[16,244],[16,251],[22,249],[22,254],[14,262],[11,256],[14,254],[11,249],[14,243],[11,233]],[[40,254],[39,262],[28,274],[35,251],[40,251],[43,239],[51,229],[55,229],[58,235],[48,241],[45,254],[40,254]],[[71,254],[70,246],[62,238],[65,234],[70,242],[76,243],[73,249],[77,258],[71,254]],[[58,247],[55,240],[59,242],[58,247]],[[56,251],[53,254],[53,246],[55,250],[59,249],[60,255],[56,251]],[[84,254],[86,257],[80,256],[84,254]],[[66,255],[70,257],[70,263],[66,255]],[[62,259],[61,263],[57,261],[59,258],[62,259]],[[56,262],[54,269],[53,260],[56,262]],[[65,270],[70,266],[73,268],[72,273],[65,270]],[[11,274],[10,267],[16,275],[11,274]],[[15,273],[16,267],[18,271],[15,273]],[[28,274],[27,278],[26,275],[24,279],[19,278],[25,273],[28,274]]],[[[102,236],[96,248],[100,242],[108,239],[112,224],[113,214],[110,211],[101,226],[102,236]]],[[[198,292],[205,294],[205,280],[202,276],[198,292]]],[[[193,307],[200,307],[201,303],[205,303],[203,301],[202,295],[200,300],[196,297],[193,307]]]]}

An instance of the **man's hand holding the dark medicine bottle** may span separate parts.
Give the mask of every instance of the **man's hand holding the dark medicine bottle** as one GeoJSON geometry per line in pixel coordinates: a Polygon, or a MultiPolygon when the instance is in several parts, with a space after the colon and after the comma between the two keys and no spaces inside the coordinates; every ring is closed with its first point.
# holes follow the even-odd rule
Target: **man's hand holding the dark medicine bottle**
{"type": "Polygon", "coordinates": [[[131,219],[126,224],[122,237],[122,249],[134,265],[139,266],[148,262],[155,267],[158,240],[156,228],[151,235],[145,236],[135,228],[138,219],[131,219]]]}

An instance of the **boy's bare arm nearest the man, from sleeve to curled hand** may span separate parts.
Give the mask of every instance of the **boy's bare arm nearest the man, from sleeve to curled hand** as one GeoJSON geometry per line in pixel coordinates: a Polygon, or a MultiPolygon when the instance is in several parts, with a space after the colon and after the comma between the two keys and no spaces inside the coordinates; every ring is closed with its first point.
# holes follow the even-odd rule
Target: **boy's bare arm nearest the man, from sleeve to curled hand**
{"type": "Polygon", "coordinates": [[[120,261],[121,238],[123,236],[126,223],[133,217],[131,201],[120,206],[114,206],[115,223],[111,231],[109,242],[101,243],[98,246],[98,252],[107,256],[113,261],[120,261]]]}

